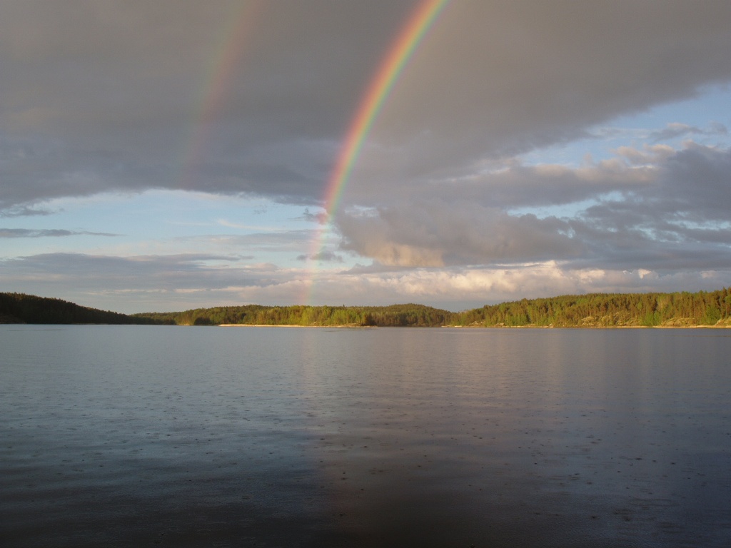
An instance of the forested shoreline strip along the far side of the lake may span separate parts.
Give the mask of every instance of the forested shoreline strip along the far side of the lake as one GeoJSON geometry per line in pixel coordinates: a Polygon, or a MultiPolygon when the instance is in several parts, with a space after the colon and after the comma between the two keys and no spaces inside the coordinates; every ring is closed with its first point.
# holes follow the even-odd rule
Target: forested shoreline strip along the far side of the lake
{"type": "Polygon", "coordinates": [[[451,312],[431,306],[217,306],[126,315],[0,293],[0,323],[344,327],[731,327],[731,288],[713,292],[562,295],[451,312]]]}

